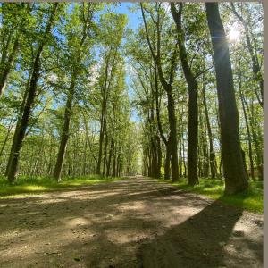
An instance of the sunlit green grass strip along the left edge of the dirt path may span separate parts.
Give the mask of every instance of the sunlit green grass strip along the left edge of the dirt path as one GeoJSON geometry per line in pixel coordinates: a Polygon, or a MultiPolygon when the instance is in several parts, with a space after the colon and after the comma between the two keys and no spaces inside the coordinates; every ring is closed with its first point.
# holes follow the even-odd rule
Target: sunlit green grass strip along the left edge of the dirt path
{"type": "Polygon", "coordinates": [[[11,185],[4,176],[0,176],[0,198],[10,198],[18,195],[25,197],[27,194],[75,188],[114,180],[121,180],[121,178],[87,175],[75,178],[67,177],[63,178],[61,182],[56,182],[49,177],[20,177],[11,185]]]}

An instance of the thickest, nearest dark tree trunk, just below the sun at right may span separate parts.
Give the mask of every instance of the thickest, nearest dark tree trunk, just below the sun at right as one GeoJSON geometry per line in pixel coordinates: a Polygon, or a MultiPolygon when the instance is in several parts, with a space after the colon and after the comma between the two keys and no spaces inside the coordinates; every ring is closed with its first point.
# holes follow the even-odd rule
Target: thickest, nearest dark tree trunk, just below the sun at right
{"type": "Polygon", "coordinates": [[[205,3],[206,16],[212,37],[217,93],[221,121],[222,161],[225,193],[234,194],[248,188],[239,139],[237,109],[230,65],[229,47],[217,3],[205,3]]]}

